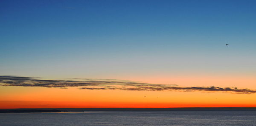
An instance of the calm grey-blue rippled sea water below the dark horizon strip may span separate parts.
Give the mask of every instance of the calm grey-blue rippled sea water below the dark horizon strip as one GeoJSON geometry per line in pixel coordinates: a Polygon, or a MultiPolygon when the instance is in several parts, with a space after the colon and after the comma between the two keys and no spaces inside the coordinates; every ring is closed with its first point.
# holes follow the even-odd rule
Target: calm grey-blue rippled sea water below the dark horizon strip
{"type": "Polygon", "coordinates": [[[0,126],[256,126],[256,111],[0,113],[0,126]]]}

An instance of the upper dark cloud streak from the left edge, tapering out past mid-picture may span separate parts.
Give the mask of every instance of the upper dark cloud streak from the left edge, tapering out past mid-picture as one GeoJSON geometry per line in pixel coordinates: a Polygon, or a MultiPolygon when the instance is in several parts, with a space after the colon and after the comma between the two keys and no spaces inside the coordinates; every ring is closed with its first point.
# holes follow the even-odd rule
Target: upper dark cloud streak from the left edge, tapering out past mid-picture
{"type": "MultiPolygon", "coordinates": [[[[76,78],[77,79],[77,78],[76,78]]],[[[1,86],[23,86],[23,87],[81,87],[81,86],[103,86],[110,85],[120,86],[176,86],[174,84],[148,84],[125,80],[111,80],[111,79],[79,79],[73,80],[43,80],[40,78],[21,77],[21,76],[0,76],[1,86]]]]}

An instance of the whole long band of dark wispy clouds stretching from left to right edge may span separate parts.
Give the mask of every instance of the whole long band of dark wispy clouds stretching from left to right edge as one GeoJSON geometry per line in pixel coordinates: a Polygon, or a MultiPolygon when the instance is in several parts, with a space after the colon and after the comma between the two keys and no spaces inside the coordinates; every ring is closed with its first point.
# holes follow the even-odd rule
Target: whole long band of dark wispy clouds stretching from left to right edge
{"type": "Polygon", "coordinates": [[[73,80],[43,80],[40,78],[21,76],[0,76],[0,86],[23,87],[79,87],[81,90],[129,90],[129,91],[206,91],[234,92],[242,94],[256,93],[256,90],[238,89],[236,87],[179,87],[175,84],[149,84],[134,81],[112,79],[76,79],[73,80]]]}

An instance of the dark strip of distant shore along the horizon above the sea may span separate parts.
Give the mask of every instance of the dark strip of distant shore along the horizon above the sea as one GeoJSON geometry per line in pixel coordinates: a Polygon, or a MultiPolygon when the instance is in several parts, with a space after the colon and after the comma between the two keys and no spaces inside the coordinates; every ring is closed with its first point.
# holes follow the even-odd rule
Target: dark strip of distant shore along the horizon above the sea
{"type": "Polygon", "coordinates": [[[256,107],[193,107],[193,108],[37,108],[0,109],[0,113],[27,112],[115,112],[115,111],[256,111],[256,107]]]}

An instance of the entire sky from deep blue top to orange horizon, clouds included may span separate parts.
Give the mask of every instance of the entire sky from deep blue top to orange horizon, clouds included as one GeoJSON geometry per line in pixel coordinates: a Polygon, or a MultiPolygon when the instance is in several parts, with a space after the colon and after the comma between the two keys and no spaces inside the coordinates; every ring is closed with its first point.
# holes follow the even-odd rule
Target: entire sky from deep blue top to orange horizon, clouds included
{"type": "Polygon", "coordinates": [[[255,4],[1,0],[0,109],[256,107],[255,4]]]}

